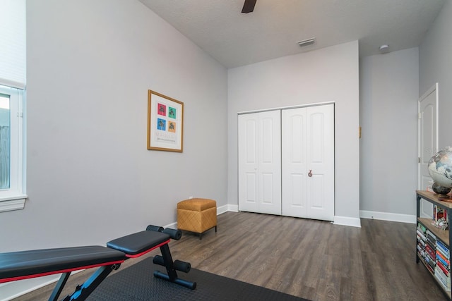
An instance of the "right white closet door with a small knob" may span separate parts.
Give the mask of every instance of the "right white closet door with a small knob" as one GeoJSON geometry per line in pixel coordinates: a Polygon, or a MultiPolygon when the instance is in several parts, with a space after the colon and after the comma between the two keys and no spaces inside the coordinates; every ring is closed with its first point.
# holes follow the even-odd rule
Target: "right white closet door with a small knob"
{"type": "Polygon", "coordinates": [[[283,215],[334,219],[334,105],[282,112],[283,215]]]}

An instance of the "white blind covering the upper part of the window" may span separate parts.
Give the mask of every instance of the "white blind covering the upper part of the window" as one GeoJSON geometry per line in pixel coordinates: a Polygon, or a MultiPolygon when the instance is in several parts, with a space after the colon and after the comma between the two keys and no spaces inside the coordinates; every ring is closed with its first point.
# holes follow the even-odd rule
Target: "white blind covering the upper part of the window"
{"type": "Polygon", "coordinates": [[[25,0],[0,0],[0,85],[25,88],[25,0]]]}

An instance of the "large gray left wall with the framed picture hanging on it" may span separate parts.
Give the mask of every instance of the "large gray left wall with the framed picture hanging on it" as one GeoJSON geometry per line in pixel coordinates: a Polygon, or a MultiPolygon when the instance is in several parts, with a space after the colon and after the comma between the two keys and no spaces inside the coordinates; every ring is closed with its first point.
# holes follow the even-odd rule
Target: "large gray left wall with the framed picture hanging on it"
{"type": "MultiPolygon", "coordinates": [[[[139,1],[27,3],[28,197],[0,252],[104,245],[227,204],[227,70],[139,1]],[[184,152],[146,149],[148,90],[184,102],[184,152]]],[[[8,229],[8,231],[6,231],[8,229]]]]}

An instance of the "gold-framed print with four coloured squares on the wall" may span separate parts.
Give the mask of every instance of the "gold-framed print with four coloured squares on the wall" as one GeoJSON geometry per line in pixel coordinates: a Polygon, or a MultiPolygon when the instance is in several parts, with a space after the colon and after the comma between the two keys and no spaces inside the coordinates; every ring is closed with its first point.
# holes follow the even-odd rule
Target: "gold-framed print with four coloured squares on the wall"
{"type": "Polygon", "coordinates": [[[148,149],[182,152],[184,103],[148,91],[148,149]]]}

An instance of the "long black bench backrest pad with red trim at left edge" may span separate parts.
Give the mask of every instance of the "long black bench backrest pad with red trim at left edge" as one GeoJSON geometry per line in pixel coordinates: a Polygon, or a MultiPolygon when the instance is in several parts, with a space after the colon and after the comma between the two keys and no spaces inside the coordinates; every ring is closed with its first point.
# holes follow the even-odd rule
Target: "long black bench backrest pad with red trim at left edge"
{"type": "Polygon", "coordinates": [[[63,247],[0,254],[0,283],[5,278],[31,278],[88,267],[121,263],[126,254],[101,246],[63,247]],[[28,276],[28,277],[27,277],[28,276]]]}

